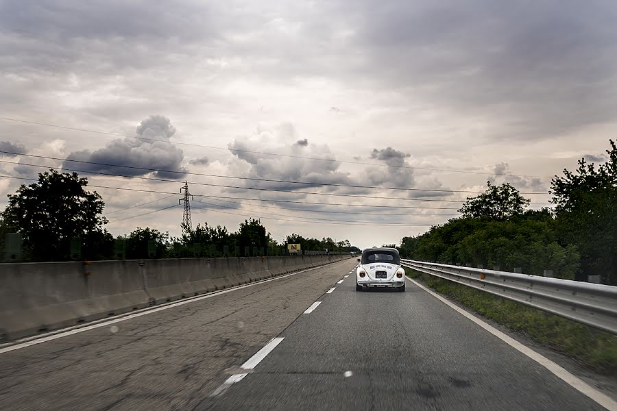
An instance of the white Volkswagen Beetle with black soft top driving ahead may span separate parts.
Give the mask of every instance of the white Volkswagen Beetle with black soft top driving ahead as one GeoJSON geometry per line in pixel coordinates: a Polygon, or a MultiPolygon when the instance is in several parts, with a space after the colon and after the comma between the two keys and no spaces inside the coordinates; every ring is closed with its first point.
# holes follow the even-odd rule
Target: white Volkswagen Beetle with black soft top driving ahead
{"type": "Polygon", "coordinates": [[[356,291],[370,287],[405,290],[405,271],[397,249],[373,248],[362,251],[356,269],[356,291]]]}

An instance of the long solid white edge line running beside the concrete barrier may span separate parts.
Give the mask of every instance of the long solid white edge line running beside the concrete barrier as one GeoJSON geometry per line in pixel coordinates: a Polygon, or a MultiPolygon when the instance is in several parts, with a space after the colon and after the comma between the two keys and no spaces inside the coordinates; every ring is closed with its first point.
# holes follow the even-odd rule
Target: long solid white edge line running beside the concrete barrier
{"type": "MultiPolygon", "coordinates": [[[[337,262],[332,262],[330,264],[336,264],[337,262]]],[[[34,339],[33,339],[33,337],[25,338],[24,340],[21,340],[21,341],[24,341],[23,343],[20,343],[19,342],[20,340],[18,340],[18,341],[16,341],[16,343],[14,343],[12,345],[9,345],[8,347],[0,348],[0,354],[8,353],[9,351],[15,351],[17,349],[23,349],[23,348],[26,348],[26,347],[31,347],[32,345],[37,345],[37,344],[41,344],[41,343],[47,343],[47,341],[56,340],[58,338],[62,338],[62,337],[66,337],[66,336],[72,336],[73,334],[79,334],[80,332],[90,331],[90,329],[106,327],[106,326],[114,324],[114,323],[120,323],[121,321],[127,321],[127,320],[130,320],[130,319],[135,319],[137,317],[147,315],[147,314],[153,314],[154,312],[159,312],[159,311],[163,311],[163,310],[169,310],[169,308],[174,308],[174,307],[178,307],[178,306],[184,306],[184,304],[193,303],[195,301],[201,301],[201,300],[207,299],[207,298],[217,297],[217,295],[227,294],[228,292],[232,292],[232,291],[236,291],[236,290],[241,290],[242,288],[252,287],[252,286],[256,286],[258,284],[264,284],[264,283],[267,283],[267,282],[276,281],[278,279],[283,279],[285,277],[291,277],[291,275],[296,275],[296,274],[300,274],[300,273],[306,273],[306,271],[312,271],[312,270],[315,270],[315,269],[320,269],[320,268],[323,268],[324,266],[327,266],[327,265],[329,265],[329,264],[324,264],[322,266],[313,267],[311,269],[297,271],[297,272],[291,273],[291,274],[279,275],[277,277],[269,278],[269,279],[264,279],[262,281],[256,281],[256,282],[252,282],[252,283],[249,283],[249,284],[243,284],[241,286],[236,286],[236,287],[228,288],[227,290],[209,292],[208,294],[200,295],[199,297],[191,297],[191,298],[183,299],[182,301],[173,301],[171,303],[162,304],[161,306],[158,306],[157,308],[144,308],[142,310],[138,310],[137,312],[132,312],[132,314],[123,314],[121,316],[117,316],[114,319],[110,319],[110,320],[104,319],[104,320],[100,320],[100,322],[97,322],[97,323],[94,323],[94,324],[90,324],[90,325],[80,325],[80,326],[76,326],[76,327],[71,327],[70,329],[66,329],[65,331],[58,330],[57,332],[51,332],[51,333],[46,334],[44,336],[35,336],[34,339]]]]}

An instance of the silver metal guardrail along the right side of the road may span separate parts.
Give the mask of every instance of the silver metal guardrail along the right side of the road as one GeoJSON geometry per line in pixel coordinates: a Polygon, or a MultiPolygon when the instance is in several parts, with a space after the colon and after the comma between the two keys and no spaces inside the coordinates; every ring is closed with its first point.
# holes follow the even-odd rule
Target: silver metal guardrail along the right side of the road
{"type": "Polygon", "coordinates": [[[404,266],[617,335],[617,287],[401,259],[404,266]]]}

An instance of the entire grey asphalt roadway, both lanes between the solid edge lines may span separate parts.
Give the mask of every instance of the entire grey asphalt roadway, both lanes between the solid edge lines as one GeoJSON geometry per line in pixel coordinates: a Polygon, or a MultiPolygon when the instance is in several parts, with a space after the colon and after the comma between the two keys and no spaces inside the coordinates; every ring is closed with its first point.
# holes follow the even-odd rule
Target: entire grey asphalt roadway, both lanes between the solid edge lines
{"type": "Polygon", "coordinates": [[[355,265],[0,349],[0,410],[606,409],[413,282],[356,292],[355,265]]]}

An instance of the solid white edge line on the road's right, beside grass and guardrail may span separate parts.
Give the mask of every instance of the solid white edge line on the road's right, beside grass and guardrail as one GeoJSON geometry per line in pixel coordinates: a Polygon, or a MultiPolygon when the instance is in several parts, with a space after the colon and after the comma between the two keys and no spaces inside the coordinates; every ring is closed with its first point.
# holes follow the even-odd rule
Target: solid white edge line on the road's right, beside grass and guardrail
{"type": "Polygon", "coordinates": [[[607,395],[596,390],[589,384],[583,382],[583,380],[581,380],[580,378],[575,377],[574,375],[568,373],[568,371],[566,371],[566,369],[564,369],[562,366],[559,366],[555,364],[555,362],[548,360],[548,358],[542,356],[540,353],[537,353],[536,351],[533,351],[533,349],[525,345],[522,345],[514,338],[511,338],[507,334],[500,332],[498,329],[496,329],[492,325],[485,323],[478,317],[456,306],[455,304],[451,303],[444,297],[441,297],[441,295],[437,294],[433,290],[429,290],[428,288],[418,283],[417,281],[411,278],[407,278],[407,279],[413,282],[413,284],[415,284],[416,286],[422,288],[424,291],[433,295],[433,297],[439,299],[439,301],[441,301],[442,303],[445,303],[446,305],[448,305],[450,308],[452,308],[452,310],[459,312],[459,314],[462,314],[463,316],[467,317],[468,319],[470,319],[471,321],[473,321],[474,323],[476,323],[483,329],[487,330],[487,332],[493,334],[494,336],[502,340],[504,343],[506,343],[510,347],[513,347],[514,349],[520,351],[525,356],[531,358],[538,364],[544,366],[544,368],[546,368],[548,371],[551,371],[551,373],[555,374],[559,379],[561,379],[562,381],[572,386],[572,388],[574,388],[575,390],[578,390],[580,393],[590,397],[590,399],[596,401],[596,403],[600,404],[607,410],[617,411],[617,401],[614,401],[614,399],[608,397],[607,395]]]}

